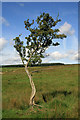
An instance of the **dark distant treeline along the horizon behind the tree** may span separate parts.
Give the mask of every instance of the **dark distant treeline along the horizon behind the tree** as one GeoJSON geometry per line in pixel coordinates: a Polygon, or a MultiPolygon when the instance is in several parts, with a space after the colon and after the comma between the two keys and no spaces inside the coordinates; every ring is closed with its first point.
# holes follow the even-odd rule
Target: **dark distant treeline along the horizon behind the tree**
{"type": "MultiPolygon", "coordinates": [[[[64,63],[42,63],[42,64],[35,64],[31,65],[31,67],[37,67],[37,66],[54,66],[54,65],[64,65],[64,63]]],[[[24,67],[23,65],[2,65],[0,67],[24,67]]]]}

